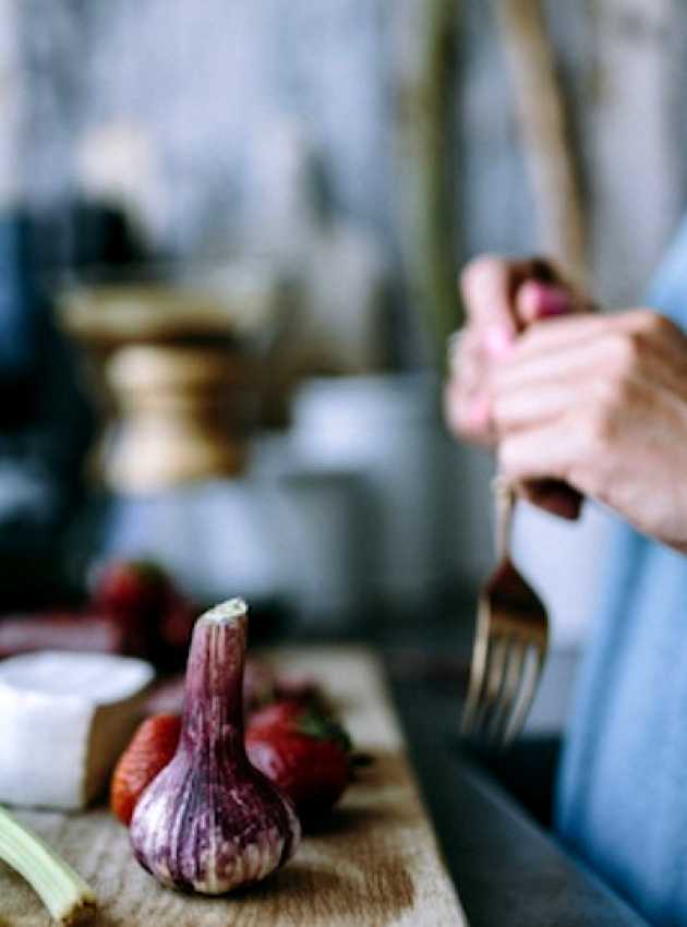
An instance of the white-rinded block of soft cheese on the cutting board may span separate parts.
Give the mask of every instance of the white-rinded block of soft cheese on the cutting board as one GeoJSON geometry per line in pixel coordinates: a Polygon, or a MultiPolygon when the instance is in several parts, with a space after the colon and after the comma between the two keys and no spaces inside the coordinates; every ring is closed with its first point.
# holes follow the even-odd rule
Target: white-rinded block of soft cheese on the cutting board
{"type": "Polygon", "coordinates": [[[106,653],[0,662],[0,803],[85,807],[105,790],[153,676],[144,660],[106,653]]]}

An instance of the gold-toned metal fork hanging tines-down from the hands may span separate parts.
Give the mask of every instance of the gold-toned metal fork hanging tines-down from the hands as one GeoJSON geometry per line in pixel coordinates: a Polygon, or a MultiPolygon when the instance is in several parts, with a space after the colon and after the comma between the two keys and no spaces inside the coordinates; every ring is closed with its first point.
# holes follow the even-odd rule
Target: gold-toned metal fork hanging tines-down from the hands
{"type": "Polygon", "coordinates": [[[505,747],[527,720],[549,645],[549,617],[510,558],[516,492],[496,477],[496,569],[483,587],[461,733],[505,747]]]}

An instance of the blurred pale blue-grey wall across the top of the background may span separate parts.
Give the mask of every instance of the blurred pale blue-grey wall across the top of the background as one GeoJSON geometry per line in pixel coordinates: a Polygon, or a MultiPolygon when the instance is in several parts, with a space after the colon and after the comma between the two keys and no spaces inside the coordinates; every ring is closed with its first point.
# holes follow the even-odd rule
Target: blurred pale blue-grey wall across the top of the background
{"type": "MultiPolygon", "coordinates": [[[[394,58],[413,36],[394,35],[391,0],[2,5],[20,36],[19,53],[9,43],[3,52],[20,71],[16,174],[34,203],[82,185],[84,160],[97,159],[107,130],[125,136],[135,176],[121,185],[156,241],[186,254],[240,241],[274,195],[263,189],[264,148],[288,117],[322,154],[337,209],[397,253],[394,58]]],[[[588,201],[593,281],[610,302],[635,301],[685,202],[687,8],[549,0],[546,10],[588,201]]],[[[484,249],[545,250],[490,3],[465,0],[456,11],[456,263],[484,249]]],[[[11,120],[3,131],[14,131],[11,120]]]]}

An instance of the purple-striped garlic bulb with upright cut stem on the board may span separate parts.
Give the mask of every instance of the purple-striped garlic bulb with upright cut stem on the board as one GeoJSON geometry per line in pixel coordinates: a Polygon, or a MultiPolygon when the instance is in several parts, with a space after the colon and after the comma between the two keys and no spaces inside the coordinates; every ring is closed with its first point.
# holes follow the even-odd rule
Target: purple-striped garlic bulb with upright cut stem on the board
{"type": "Polygon", "coordinates": [[[231,599],[195,623],[179,747],[131,821],[138,862],[169,888],[222,894],[263,879],[296,851],[291,803],[243,745],[246,605],[231,599]]]}

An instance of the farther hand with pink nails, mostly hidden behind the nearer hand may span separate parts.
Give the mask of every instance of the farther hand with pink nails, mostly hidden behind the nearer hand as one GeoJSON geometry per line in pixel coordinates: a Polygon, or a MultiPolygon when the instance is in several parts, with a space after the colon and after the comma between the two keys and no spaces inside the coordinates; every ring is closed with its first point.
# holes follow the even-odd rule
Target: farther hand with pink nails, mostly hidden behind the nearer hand
{"type": "MultiPolygon", "coordinates": [[[[570,286],[547,261],[508,261],[482,255],[460,276],[466,325],[454,336],[444,394],[445,417],[459,437],[493,447],[498,441],[492,417],[491,382],[499,361],[528,326],[546,318],[590,312],[591,300],[570,286]]],[[[535,504],[576,517],[579,497],[559,486],[533,484],[525,494],[535,504]]]]}

